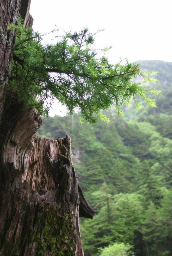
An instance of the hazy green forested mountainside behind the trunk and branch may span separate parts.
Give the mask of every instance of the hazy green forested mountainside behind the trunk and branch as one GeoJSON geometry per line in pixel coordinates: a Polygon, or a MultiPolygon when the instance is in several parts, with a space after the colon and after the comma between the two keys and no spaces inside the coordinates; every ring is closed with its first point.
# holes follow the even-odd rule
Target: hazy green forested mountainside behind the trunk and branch
{"type": "Polygon", "coordinates": [[[156,109],[131,104],[124,117],[110,110],[110,123],[96,126],[80,124],[77,114],[55,116],[38,131],[72,138],[79,182],[96,210],[93,220],[80,220],[85,256],[172,254],[172,63],[139,63],[159,71],[156,109]]]}

